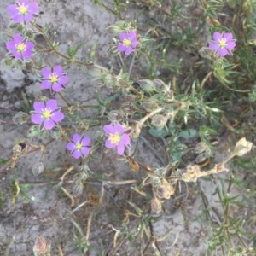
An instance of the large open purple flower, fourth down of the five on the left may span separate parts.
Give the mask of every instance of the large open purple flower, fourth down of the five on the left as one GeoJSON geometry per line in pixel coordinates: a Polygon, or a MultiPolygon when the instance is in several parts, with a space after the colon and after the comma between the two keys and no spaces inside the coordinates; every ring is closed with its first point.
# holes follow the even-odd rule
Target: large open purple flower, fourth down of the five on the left
{"type": "Polygon", "coordinates": [[[64,119],[64,114],[57,106],[56,100],[48,102],[34,102],[34,111],[32,111],[31,120],[34,124],[40,125],[40,128],[51,130],[64,119]]]}

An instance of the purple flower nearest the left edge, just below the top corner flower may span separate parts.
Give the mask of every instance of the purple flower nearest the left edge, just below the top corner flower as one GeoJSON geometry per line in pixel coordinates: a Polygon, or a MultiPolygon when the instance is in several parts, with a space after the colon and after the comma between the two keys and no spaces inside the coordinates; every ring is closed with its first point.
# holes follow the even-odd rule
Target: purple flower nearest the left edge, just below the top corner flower
{"type": "Polygon", "coordinates": [[[15,34],[14,39],[6,43],[6,48],[15,56],[15,59],[22,60],[32,57],[34,44],[26,42],[20,34],[15,34]]]}

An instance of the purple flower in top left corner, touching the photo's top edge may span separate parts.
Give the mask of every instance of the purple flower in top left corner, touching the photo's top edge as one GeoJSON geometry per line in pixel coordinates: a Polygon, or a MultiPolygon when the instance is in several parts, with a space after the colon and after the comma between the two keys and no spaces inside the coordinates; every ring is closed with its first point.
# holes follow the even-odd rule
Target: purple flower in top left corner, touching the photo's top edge
{"type": "Polygon", "coordinates": [[[18,0],[15,4],[9,5],[7,8],[10,15],[13,16],[15,23],[31,21],[38,11],[38,3],[30,0],[18,0]]]}

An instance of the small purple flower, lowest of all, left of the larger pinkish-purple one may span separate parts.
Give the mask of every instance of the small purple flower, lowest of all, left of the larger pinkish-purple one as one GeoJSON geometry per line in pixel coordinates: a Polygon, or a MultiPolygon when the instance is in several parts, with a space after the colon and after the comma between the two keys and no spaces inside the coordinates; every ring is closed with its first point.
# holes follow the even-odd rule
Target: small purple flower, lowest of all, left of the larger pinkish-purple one
{"type": "Polygon", "coordinates": [[[80,157],[86,157],[89,152],[90,148],[90,137],[79,136],[79,134],[75,133],[72,137],[72,142],[67,143],[67,150],[71,151],[73,154],[73,158],[79,159],[80,157]]]}

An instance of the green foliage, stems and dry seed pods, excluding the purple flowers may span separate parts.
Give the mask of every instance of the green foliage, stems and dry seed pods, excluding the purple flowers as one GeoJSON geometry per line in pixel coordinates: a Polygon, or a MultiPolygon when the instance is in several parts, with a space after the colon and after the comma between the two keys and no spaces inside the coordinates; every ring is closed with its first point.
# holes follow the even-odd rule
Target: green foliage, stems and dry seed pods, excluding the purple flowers
{"type": "MultiPolygon", "coordinates": [[[[94,250],[90,244],[90,229],[93,229],[91,227],[98,212],[108,208],[104,205],[108,205],[104,201],[106,198],[111,204],[114,202],[111,214],[116,226],[109,225],[113,236],[111,249],[106,245],[108,241],[103,241],[103,238],[99,241],[101,255],[115,255],[125,241],[136,247],[138,238],[141,255],[147,255],[149,245],[155,249],[155,255],[160,255],[152,223],[162,217],[162,204],[170,200],[171,196],[176,196],[181,181],[191,189],[189,182],[196,182],[197,177],[211,174],[208,180],[214,181],[215,192],[204,195],[204,191],[197,188],[195,193],[203,195],[201,218],[206,219],[210,234],[207,252],[209,255],[255,254],[256,239],[250,228],[250,223],[255,225],[256,221],[255,152],[233,160],[228,167],[225,165],[231,158],[241,156],[241,151],[247,153],[253,147],[249,141],[254,139],[256,125],[256,1],[201,0],[196,5],[198,14],[191,11],[195,10],[194,1],[94,0],[94,3],[117,20],[106,29],[113,36],[113,44],[109,42],[109,54],[117,64],[113,67],[103,67],[95,62],[100,47],[96,42],[93,42],[95,44],[90,55],[86,56],[90,61],[84,61],[79,51],[85,43],[70,44],[65,53],[61,52],[59,43],[50,34],[49,24],[38,26],[33,22],[30,29],[21,25],[9,27],[30,38],[39,50],[37,56],[27,63],[7,56],[3,60],[6,67],[27,68],[30,72],[34,70],[40,79],[38,73],[45,66],[44,54],[56,55],[65,67],[76,66],[81,72],[90,74],[91,84],[96,91],[96,103],[84,105],[83,102],[70,102],[65,93],[56,93],[63,102],[65,122],[52,131],[40,129],[38,125],[30,126],[26,134],[28,149],[23,148],[19,152],[13,149],[8,167],[16,168],[21,157],[34,152],[40,152],[43,161],[43,155],[50,154],[50,144],[67,144],[72,132],[93,133],[94,143],[90,145],[87,158],[79,164],[73,164],[72,160],[67,160],[67,163],[65,159],[63,166],[51,166],[44,170],[42,177],[49,186],[47,196],[52,189],[56,189],[60,198],[63,196],[71,201],[72,210],[73,207],[81,207],[75,206],[79,196],[87,196],[84,200],[88,206],[87,212],[83,212],[82,218],[80,216],[80,219],[72,220],[74,244],[81,255],[94,250]],[[128,15],[129,20],[125,20],[131,9],[135,14],[128,15]],[[119,33],[131,30],[137,33],[138,44],[131,55],[126,56],[118,50],[119,33]],[[224,31],[232,32],[236,38],[236,49],[233,55],[222,57],[218,52],[212,52],[208,45],[213,32],[224,31]],[[37,43],[37,36],[43,37],[44,45],[37,43]],[[125,165],[129,164],[132,179],[125,179],[124,176],[124,180],[119,180],[121,175],[119,170],[114,169],[115,163],[110,174],[102,172],[109,152],[109,149],[102,150],[105,146],[102,126],[109,123],[125,124],[125,134],[132,137],[132,147],[127,148],[122,158],[125,165]],[[148,159],[141,160],[141,155],[137,156],[137,138],[142,134],[149,138],[148,148],[156,155],[155,158],[158,156],[161,164],[165,163],[163,155],[166,157],[166,166],[158,166],[158,163],[149,166],[148,159]],[[44,137],[49,137],[49,141],[42,143],[44,137]],[[249,141],[239,145],[240,151],[239,147],[230,150],[241,137],[248,137],[249,141]],[[32,141],[37,139],[38,144],[33,145],[32,141]],[[157,143],[153,145],[152,142],[157,143]],[[203,143],[200,150],[196,148],[198,143],[203,143]],[[217,144],[220,144],[219,148],[217,144]],[[160,156],[158,145],[162,147],[160,156]],[[206,162],[197,164],[195,154],[201,153],[206,162]],[[99,157],[99,154],[102,155],[99,157]],[[221,159],[218,154],[221,154],[221,159]],[[96,167],[90,170],[90,163],[94,160],[97,160],[96,167]],[[205,166],[210,171],[201,172],[205,166]],[[215,177],[224,171],[229,172],[224,177],[218,177],[218,183],[215,183],[212,174],[215,177]],[[119,189],[116,186],[122,187],[124,194],[129,194],[129,201],[122,200],[121,205],[117,203],[115,196],[119,189]],[[111,189],[115,191],[113,195],[111,189]],[[218,196],[218,200],[214,201],[219,211],[219,214],[215,214],[218,215],[216,218],[212,214],[212,202],[207,196],[218,196]],[[159,215],[155,217],[156,214],[159,215]],[[86,234],[80,227],[84,225],[84,219],[87,219],[86,234]]],[[[5,34],[2,38],[3,42],[9,40],[5,34]]],[[[31,113],[33,102],[48,99],[48,96],[32,98],[24,92],[21,97],[21,108],[26,114],[31,113]]],[[[65,148],[60,150],[64,154],[65,148]]],[[[110,161],[119,163],[112,156],[110,161]]],[[[0,164],[3,172],[6,161],[0,159],[0,164]]],[[[19,198],[31,201],[30,189],[32,185],[20,182],[15,172],[9,181],[9,198],[13,204],[19,198]]],[[[6,207],[5,199],[1,192],[2,211],[6,207]]],[[[107,210],[105,216],[108,216],[107,210]]],[[[73,216],[73,212],[70,216],[73,216]]]]}

